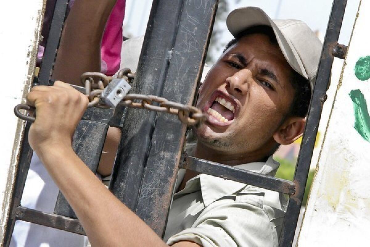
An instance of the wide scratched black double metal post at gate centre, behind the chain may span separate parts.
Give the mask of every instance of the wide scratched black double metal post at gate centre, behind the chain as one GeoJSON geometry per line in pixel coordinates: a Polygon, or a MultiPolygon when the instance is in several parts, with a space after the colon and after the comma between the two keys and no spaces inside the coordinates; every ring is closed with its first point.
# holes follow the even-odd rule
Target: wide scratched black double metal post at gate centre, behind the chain
{"type": "MultiPolygon", "coordinates": [[[[183,104],[193,101],[216,2],[154,1],[134,83],[138,92],[183,104]]],[[[185,131],[174,116],[127,110],[111,189],[159,236],[185,131]]]]}

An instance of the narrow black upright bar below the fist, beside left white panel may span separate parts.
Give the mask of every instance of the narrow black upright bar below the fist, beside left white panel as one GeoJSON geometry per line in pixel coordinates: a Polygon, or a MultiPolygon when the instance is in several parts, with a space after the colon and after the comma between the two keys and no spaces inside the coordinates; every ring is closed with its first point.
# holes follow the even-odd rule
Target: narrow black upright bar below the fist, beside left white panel
{"type": "Polygon", "coordinates": [[[16,181],[14,184],[13,195],[11,197],[11,208],[9,213],[9,220],[5,229],[4,234],[4,247],[9,247],[11,235],[13,234],[14,224],[16,223],[16,217],[14,212],[16,212],[17,207],[21,204],[21,198],[23,194],[24,184],[26,183],[28,169],[30,168],[31,158],[33,150],[28,144],[28,131],[30,130],[31,123],[26,124],[26,129],[24,130],[24,137],[21,146],[21,152],[19,157],[19,166],[16,173],[16,181]]]}

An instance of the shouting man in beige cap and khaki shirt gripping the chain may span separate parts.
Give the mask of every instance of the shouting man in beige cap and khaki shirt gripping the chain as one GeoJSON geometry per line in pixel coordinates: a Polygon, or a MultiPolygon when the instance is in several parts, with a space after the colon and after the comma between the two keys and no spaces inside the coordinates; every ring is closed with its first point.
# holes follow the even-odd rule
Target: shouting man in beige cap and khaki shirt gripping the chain
{"type": "MultiPolygon", "coordinates": [[[[232,11],[235,39],[210,69],[197,107],[208,121],[188,152],[275,175],[272,154],[302,135],[321,43],[298,20],[271,20],[256,7],[232,11]]],[[[115,198],[75,155],[71,139],[88,99],[67,84],[33,87],[29,142],[80,219],[92,246],[277,246],[282,194],[181,171],[164,241],[115,198]],[[58,124],[55,124],[58,119],[58,124]]]]}

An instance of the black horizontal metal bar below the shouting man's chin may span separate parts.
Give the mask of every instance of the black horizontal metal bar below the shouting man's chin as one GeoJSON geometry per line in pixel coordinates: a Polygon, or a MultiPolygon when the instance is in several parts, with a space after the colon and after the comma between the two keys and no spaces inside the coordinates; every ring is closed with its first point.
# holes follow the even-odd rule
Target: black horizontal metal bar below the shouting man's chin
{"type": "Polygon", "coordinates": [[[255,173],[253,171],[235,168],[208,160],[202,160],[192,156],[185,157],[185,161],[182,162],[179,167],[281,192],[290,196],[296,192],[296,186],[292,181],[255,173]]]}

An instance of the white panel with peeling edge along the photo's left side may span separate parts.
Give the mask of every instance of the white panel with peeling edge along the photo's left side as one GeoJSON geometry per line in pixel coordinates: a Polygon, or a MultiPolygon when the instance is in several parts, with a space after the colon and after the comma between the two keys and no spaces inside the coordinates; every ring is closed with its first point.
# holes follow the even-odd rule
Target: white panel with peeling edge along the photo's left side
{"type": "Polygon", "coordinates": [[[0,148],[0,243],[9,214],[9,201],[19,156],[24,121],[13,113],[24,103],[36,62],[43,0],[6,1],[0,15],[1,148],[0,148]]]}

